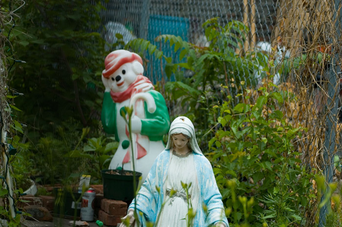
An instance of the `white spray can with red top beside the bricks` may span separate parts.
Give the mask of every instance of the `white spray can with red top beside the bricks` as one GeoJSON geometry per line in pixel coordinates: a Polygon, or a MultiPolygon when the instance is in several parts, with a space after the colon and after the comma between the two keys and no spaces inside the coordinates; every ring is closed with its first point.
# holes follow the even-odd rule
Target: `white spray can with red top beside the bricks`
{"type": "Polygon", "coordinates": [[[81,220],[91,222],[94,220],[95,189],[89,188],[82,196],[81,220]]]}

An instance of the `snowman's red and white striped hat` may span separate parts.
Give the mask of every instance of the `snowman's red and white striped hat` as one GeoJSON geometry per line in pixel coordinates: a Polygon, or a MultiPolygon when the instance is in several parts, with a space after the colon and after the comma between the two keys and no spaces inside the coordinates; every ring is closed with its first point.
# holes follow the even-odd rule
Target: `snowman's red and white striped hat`
{"type": "Polygon", "coordinates": [[[105,59],[105,70],[102,71],[102,75],[105,78],[109,78],[121,65],[134,61],[138,61],[143,65],[143,60],[136,53],[128,50],[115,50],[107,55],[105,59]]]}

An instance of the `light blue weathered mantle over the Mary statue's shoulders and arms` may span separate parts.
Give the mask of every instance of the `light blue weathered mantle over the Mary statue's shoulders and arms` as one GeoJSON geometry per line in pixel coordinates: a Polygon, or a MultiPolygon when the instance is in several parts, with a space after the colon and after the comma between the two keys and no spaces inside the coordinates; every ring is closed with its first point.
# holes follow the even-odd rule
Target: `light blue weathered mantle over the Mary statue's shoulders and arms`
{"type": "MultiPolygon", "coordinates": [[[[229,227],[224,212],[222,196],[216,185],[212,165],[203,154],[193,152],[193,159],[200,190],[193,226],[206,227],[216,222],[224,222],[229,227]],[[208,208],[207,214],[202,208],[203,204],[208,208]]],[[[144,219],[155,223],[160,213],[164,201],[163,184],[168,174],[169,161],[170,150],[164,150],[158,155],[136,197],[138,201],[136,203],[136,209],[137,211],[141,211],[145,216],[145,218],[142,216],[139,217],[143,227],[146,226],[144,219]],[[160,192],[158,192],[156,187],[159,188],[160,192]]],[[[132,201],[128,208],[134,209],[134,203],[135,200],[132,201]]]]}

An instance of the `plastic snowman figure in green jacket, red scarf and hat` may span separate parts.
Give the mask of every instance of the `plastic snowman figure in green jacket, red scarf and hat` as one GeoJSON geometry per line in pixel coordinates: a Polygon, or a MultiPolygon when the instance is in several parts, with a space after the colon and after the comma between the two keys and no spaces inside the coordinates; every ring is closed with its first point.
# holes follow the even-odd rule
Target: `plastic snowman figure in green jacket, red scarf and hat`
{"type": "Polygon", "coordinates": [[[104,130],[114,134],[119,142],[109,168],[123,165],[125,170],[132,170],[130,154],[133,147],[135,170],[143,174],[144,181],[155,158],[165,148],[162,139],[170,129],[170,117],[164,97],[143,76],[142,63],[139,55],[127,50],[108,54],[102,72],[106,90],[101,120],[104,130]],[[128,125],[120,114],[125,106],[133,107],[132,144],[129,142],[128,125]]]}

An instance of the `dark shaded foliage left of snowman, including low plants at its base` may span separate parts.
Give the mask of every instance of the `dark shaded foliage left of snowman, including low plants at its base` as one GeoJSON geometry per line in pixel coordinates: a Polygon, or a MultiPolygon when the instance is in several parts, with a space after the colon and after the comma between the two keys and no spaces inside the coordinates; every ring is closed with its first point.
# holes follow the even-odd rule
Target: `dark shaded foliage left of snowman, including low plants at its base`
{"type": "Polygon", "coordinates": [[[15,58],[26,63],[14,64],[10,84],[24,94],[16,106],[27,127],[20,141],[26,143],[18,154],[21,163],[13,165],[24,163],[31,171],[16,172],[17,179],[35,176],[37,182],[55,184],[92,173],[101,181],[93,169],[108,165],[115,146],[101,153],[96,152],[101,147],[86,148],[87,137],[104,135],[101,72],[107,53],[97,32],[102,29],[101,9],[96,1],[32,0],[19,11],[9,39],[15,58]],[[83,151],[87,155],[76,157],[83,151]]]}

